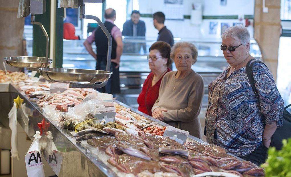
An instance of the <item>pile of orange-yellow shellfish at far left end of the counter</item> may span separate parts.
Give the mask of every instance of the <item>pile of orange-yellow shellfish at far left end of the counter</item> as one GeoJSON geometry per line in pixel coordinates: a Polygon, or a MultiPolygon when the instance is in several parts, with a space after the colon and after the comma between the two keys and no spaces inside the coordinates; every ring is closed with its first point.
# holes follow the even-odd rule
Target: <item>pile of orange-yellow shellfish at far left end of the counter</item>
{"type": "Polygon", "coordinates": [[[7,74],[0,70],[0,82],[22,82],[28,79],[28,76],[23,72],[10,72],[7,71],[7,74]]]}

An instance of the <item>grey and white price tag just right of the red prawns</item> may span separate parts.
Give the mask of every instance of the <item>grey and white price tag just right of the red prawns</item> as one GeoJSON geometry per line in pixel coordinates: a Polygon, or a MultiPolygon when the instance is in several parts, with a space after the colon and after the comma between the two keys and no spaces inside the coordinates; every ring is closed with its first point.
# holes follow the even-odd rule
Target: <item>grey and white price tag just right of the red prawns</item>
{"type": "Polygon", "coordinates": [[[173,126],[167,126],[163,137],[169,137],[170,139],[173,139],[180,144],[185,144],[188,135],[188,131],[178,129],[173,126]]]}

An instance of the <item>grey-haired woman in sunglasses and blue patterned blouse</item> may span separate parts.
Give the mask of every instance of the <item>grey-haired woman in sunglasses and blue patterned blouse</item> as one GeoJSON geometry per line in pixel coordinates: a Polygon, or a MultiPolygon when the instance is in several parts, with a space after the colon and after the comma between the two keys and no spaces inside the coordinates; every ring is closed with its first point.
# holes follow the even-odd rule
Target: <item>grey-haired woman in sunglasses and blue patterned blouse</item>
{"type": "Polygon", "coordinates": [[[246,65],[254,58],[249,53],[248,29],[232,26],[221,38],[220,49],[229,66],[208,86],[204,134],[208,143],[259,165],[266,160],[270,138],[283,123],[284,101],[262,63],[253,65],[256,98],[246,75],[246,65]]]}

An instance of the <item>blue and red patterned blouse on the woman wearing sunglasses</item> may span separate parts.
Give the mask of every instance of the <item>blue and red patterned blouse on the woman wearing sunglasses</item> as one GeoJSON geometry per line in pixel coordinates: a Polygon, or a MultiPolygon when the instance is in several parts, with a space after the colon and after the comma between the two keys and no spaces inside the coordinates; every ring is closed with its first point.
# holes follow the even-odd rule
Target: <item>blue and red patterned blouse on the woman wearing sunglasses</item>
{"type": "Polygon", "coordinates": [[[208,109],[205,116],[207,142],[243,156],[253,152],[262,143],[264,124],[277,121],[277,127],[283,125],[284,100],[264,64],[253,65],[260,102],[246,75],[246,67],[233,71],[225,79],[229,68],[208,86],[208,109]],[[215,129],[217,139],[214,138],[215,129]]]}

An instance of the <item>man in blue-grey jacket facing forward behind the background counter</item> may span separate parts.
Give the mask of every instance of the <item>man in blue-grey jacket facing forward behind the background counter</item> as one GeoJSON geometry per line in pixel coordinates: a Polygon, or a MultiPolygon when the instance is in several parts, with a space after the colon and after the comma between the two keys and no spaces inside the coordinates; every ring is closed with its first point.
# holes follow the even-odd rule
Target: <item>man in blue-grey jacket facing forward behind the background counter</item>
{"type": "Polygon", "coordinates": [[[123,36],[145,36],[145,22],[139,20],[141,14],[138,10],[133,10],[131,19],[123,24],[123,36]]]}

